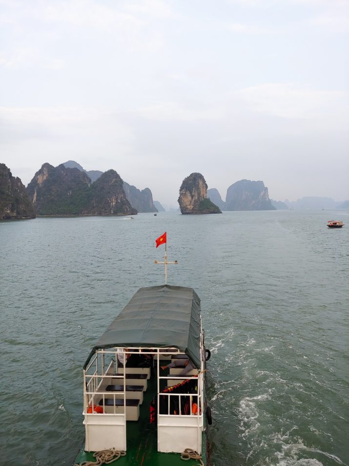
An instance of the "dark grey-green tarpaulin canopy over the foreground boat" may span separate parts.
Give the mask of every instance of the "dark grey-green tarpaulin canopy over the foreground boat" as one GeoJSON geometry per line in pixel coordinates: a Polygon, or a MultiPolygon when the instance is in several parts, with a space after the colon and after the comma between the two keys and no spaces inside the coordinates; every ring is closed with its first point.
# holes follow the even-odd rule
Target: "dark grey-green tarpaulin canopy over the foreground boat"
{"type": "Polygon", "coordinates": [[[140,288],[113,320],[88,356],[107,348],[174,347],[200,369],[200,298],[193,288],[140,288]]]}

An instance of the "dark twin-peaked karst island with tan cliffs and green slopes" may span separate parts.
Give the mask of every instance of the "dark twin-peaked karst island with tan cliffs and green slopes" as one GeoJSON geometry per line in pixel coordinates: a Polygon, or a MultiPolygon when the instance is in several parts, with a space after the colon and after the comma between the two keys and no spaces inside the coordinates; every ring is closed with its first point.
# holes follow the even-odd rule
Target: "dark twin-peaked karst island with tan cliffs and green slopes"
{"type": "Polygon", "coordinates": [[[27,186],[38,215],[137,214],[123,192],[123,181],[109,170],[91,184],[78,168],[44,163],[27,186]]]}

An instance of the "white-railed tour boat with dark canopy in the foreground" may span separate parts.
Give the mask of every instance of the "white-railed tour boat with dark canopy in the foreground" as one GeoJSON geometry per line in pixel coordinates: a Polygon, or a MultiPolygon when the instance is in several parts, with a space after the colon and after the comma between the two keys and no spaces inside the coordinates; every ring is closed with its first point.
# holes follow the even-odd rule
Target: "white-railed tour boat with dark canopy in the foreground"
{"type": "Polygon", "coordinates": [[[204,336],[193,288],[140,288],[83,366],[85,441],[74,464],[209,465],[204,336]]]}

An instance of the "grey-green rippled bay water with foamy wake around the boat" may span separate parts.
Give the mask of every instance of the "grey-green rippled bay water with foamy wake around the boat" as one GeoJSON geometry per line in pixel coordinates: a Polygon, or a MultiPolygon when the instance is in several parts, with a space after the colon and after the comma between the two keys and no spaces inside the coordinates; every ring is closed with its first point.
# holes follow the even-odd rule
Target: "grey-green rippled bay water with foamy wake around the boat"
{"type": "Polygon", "coordinates": [[[0,464],[71,465],[82,365],[164,283],[165,230],[202,301],[213,466],[348,466],[349,214],[296,211],[0,222],[0,464]]]}

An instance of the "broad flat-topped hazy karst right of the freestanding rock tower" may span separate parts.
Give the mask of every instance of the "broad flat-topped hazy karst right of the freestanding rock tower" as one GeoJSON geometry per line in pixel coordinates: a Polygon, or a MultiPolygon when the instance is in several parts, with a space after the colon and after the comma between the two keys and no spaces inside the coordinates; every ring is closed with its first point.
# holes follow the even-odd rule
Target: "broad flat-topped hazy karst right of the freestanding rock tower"
{"type": "Polygon", "coordinates": [[[263,181],[242,179],[228,187],[226,210],[276,210],[263,181]]]}

